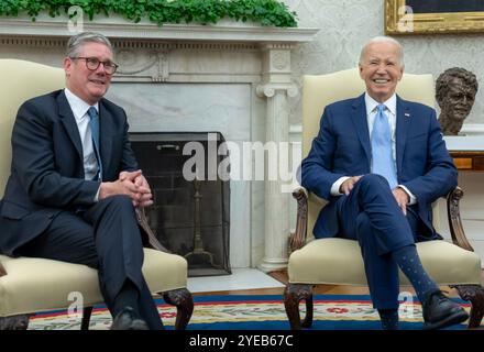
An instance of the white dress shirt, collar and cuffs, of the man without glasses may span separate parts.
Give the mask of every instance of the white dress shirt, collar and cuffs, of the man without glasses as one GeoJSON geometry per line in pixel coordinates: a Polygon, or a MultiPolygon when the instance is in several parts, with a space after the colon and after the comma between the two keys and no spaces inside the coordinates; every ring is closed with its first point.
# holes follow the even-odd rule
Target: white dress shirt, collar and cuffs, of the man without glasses
{"type": "MultiPolygon", "coordinates": [[[[370,135],[372,135],[372,132],[373,132],[373,123],[375,122],[375,117],[376,117],[376,113],[378,112],[378,109],[377,109],[378,105],[380,105],[380,102],[377,102],[375,99],[370,97],[370,95],[367,92],[365,94],[366,121],[369,124],[370,135]]],[[[395,163],[395,169],[397,169],[397,166],[396,166],[396,133],[395,133],[396,128],[397,128],[397,96],[396,96],[396,94],[394,94],[383,105],[385,106],[384,113],[388,117],[388,123],[389,123],[389,128],[392,131],[392,156],[393,156],[393,161],[395,163]]],[[[353,176],[358,176],[358,175],[353,175],[353,176]]],[[[350,178],[350,177],[343,176],[343,177],[340,177],[339,179],[337,179],[337,182],[331,186],[331,195],[332,196],[341,196],[340,186],[348,178],[350,178]]],[[[407,195],[410,197],[409,205],[414,205],[417,202],[417,198],[410,193],[410,190],[408,190],[407,187],[402,186],[402,185],[398,185],[397,187],[400,187],[402,189],[404,189],[407,193],[407,195]]]]}

